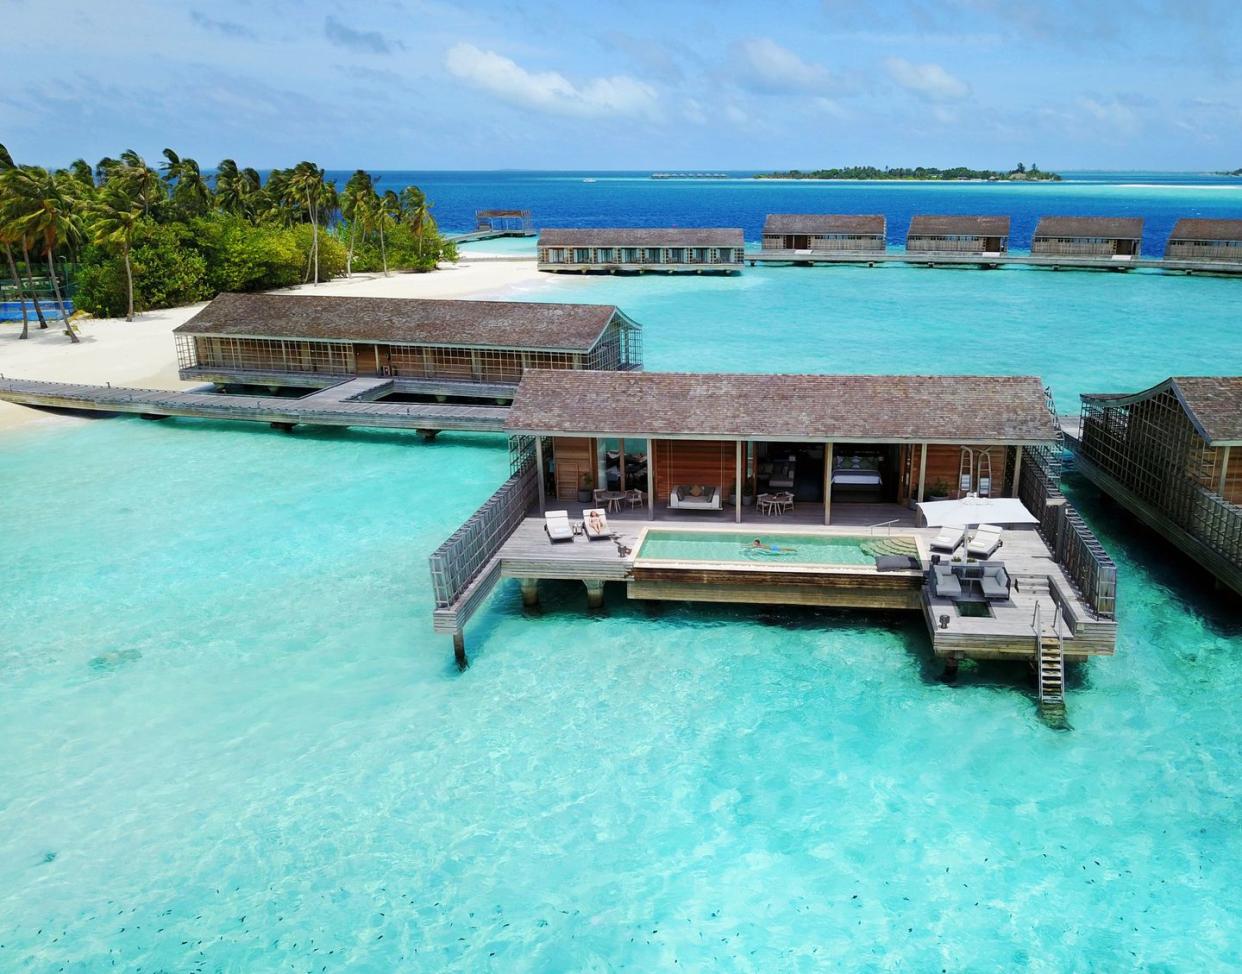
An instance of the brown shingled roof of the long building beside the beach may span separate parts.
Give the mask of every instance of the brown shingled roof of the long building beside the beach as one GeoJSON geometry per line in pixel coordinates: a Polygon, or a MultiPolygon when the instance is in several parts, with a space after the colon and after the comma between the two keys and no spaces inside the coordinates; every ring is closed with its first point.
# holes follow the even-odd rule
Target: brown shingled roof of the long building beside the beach
{"type": "Polygon", "coordinates": [[[176,334],[586,352],[611,304],[220,294],[176,334]]]}

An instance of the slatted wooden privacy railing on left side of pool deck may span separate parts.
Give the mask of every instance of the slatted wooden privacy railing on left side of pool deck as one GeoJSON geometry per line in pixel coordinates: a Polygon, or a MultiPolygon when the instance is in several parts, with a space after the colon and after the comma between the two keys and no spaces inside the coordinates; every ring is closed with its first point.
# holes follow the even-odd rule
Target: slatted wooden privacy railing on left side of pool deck
{"type": "MultiPolygon", "coordinates": [[[[533,448],[528,452],[533,453],[533,448]]],[[[431,554],[436,608],[452,605],[501,550],[530,506],[539,499],[533,456],[522,456],[513,475],[431,554]]]]}

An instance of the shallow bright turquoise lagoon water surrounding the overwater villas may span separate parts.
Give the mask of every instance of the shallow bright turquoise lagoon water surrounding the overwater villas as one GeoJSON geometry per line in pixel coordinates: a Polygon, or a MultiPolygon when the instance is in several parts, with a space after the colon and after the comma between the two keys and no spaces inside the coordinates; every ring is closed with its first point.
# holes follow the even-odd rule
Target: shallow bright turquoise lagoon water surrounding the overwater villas
{"type": "MultiPolygon", "coordinates": [[[[1238,282],[555,281],[652,368],[1237,370],[1238,282]]],[[[0,439],[0,970],[1233,970],[1242,616],[1076,489],[1112,660],[1042,724],[917,615],[504,585],[452,667],[426,557],[497,436],[120,419],[0,439]]]]}

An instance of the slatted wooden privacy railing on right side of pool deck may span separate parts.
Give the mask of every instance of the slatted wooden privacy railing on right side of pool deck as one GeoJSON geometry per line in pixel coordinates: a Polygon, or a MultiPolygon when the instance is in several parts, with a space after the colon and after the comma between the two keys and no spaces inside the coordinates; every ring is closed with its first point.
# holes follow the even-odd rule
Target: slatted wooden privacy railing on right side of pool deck
{"type": "Polygon", "coordinates": [[[1023,457],[1018,499],[1040,519],[1040,535],[1083,601],[1098,616],[1115,617],[1117,565],[1031,450],[1023,457]]]}

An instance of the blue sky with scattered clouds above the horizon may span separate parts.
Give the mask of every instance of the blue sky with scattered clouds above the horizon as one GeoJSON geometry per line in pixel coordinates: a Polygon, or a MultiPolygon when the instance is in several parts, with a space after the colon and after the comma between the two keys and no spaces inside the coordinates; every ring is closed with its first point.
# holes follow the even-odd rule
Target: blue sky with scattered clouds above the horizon
{"type": "Polygon", "coordinates": [[[0,0],[22,162],[1242,166],[1242,1],[0,0]]]}

